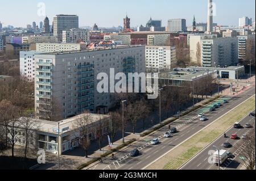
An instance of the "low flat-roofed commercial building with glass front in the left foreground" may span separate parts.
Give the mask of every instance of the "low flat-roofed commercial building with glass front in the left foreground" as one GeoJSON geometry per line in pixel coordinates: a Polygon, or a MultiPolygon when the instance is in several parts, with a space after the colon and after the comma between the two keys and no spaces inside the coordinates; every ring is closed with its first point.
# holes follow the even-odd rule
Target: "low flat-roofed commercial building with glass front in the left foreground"
{"type": "MultiPolygon", "coordinates": [[[[81,144],[82,138],[89,141],[97,139],[98,135],[106,135],[110,129],[110,116],[84,113],[59,122],[20,117],[31,125],[29,147],[57,153],[73,150],[81,144]],[[81,124],[86,123],[86,124],[81,124]],[[88,123],[88,124],[87,124],[88,123]],[[88,132],[83,131],[88,128],[88,132]],[[101,132],[101,134],[99,134],[101,132]],[[87,135],[84,135],[87,134],[87,135]]],[[[24,127],[17,125],[17,145],[24,146],[26,142],[24,127]]]]}

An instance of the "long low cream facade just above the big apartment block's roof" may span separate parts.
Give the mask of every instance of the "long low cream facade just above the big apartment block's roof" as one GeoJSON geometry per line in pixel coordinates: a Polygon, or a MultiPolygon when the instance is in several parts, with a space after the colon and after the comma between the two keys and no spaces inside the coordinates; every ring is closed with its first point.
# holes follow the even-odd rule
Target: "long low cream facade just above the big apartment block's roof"
{"type": "Polygon", "coordinates": [[[80,49],[79,43],[36,43],[36,51],[39,52],[66,52],[80,49]]]}

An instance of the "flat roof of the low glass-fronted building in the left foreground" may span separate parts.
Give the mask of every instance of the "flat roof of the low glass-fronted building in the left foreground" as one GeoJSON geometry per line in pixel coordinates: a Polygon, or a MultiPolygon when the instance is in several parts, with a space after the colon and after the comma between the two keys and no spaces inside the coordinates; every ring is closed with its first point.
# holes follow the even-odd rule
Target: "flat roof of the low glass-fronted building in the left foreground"
{"type": "MultiPolygon", "coordinates": [[[[86,116],[89,116],[90,124],[95,123],[98,120],[102,120],[110,117],[109,115],[98,115],[93,113],[84,113],[81,115],[77,115],[69,119],[60,121],[60,133],[65,133],[65,132],[69,132],[76,129],[75,128],[76,121],[86,116]]],[[[28,118],[28,117],[19,118],[19,120],[22,120],[22,119],[31,119],[31,118],[28,118]]],[[[31,119],[31,121],[35,122],[35,125],[32,129],[35,129],[41,132],[47,132],[47,133],[55,133],[55,134],[58,133],[58,122],[41,120],[41,119],[31,119]]]]}

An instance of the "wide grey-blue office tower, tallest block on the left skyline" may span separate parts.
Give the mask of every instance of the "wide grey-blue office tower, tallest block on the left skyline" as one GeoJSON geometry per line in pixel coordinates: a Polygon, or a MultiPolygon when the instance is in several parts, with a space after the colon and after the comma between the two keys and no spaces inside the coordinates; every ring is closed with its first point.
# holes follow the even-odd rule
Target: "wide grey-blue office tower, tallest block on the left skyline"
{"type": "Polygon", "coordinates": [[[62,41],[62,31],[72,28],[79,28],[79,16],[77,15],[56,15],[53,18],[53,35],[62,41]]]}

